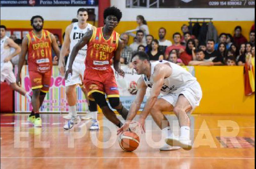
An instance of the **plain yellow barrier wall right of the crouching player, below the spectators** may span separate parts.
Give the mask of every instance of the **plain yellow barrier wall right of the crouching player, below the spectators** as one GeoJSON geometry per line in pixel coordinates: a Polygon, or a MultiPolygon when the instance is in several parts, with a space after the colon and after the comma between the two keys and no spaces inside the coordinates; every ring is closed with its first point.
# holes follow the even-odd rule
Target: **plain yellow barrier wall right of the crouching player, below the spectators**
{"type": "Polygon", "coordinates": [[[244,95],[242,66],[196,66],[203,98],[195,113],[254,114],[255,95],[244,95]]]}

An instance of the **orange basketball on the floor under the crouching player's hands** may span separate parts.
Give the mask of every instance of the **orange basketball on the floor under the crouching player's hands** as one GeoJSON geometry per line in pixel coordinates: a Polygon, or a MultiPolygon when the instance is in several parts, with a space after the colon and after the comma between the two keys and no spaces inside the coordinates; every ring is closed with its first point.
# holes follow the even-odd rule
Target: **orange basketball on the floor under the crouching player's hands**
{"type": "Polygon", "coordinates": [[[126,131],[120,135],[119,145],[124,151],[134,151],[140,143],[139,136],[130,131],[126,131]]]}

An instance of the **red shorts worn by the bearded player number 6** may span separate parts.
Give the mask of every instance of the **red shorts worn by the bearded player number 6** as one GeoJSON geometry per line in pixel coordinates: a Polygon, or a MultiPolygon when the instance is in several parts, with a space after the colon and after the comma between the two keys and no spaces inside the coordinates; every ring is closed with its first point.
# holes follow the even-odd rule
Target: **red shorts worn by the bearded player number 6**
{"type": "Polygon", "coordinates": [[[41,88],[42,92],[48,92],[51,85],[52,71],[40,73],[38,71],[28,71],[32,90],[41,88]]]}

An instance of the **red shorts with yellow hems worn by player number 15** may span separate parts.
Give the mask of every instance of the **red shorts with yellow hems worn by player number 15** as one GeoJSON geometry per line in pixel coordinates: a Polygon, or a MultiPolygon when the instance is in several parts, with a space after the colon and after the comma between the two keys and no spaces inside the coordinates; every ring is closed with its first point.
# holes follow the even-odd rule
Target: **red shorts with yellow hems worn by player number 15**
{"type": "Polygon", "coordinates": [[[106,71],[85,70],[84,87],[90,99],[93,99],[91,96],[93,92],[106,94],[107,98],[119,97],[115,74],[112,69],[106,71]]]}

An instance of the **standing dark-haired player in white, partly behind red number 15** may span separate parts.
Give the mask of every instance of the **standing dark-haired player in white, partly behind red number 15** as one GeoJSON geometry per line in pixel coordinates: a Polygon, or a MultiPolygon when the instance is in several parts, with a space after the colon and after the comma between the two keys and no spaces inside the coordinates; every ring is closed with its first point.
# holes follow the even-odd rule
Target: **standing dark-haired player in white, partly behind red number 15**
{"type": "MultiPolygon", "coordinates": [[[[62,48],[60,50],[60,61],[59,61],[59,69],[62,75],[64,75],[64,56],[68,51],[72,51],[73,47],[76,43],[83,37],[83,35],[94,29],[95,27],[89,23],[86,23],[88,19],[88,11],[85,8],[79,8],[77,11],[77,19],[78,22],[72,23],[66,28],[66,35],[64,38],[64,42],[62,48]],[[69,50],[68,50],[69,49],[69,50]]],[[[83,78],[84,78],[84,70],[85,70],[85,57],[86,57],[87,45],[85,45],[82,49],[79,50],[76,59],[72,65],[73,74],[65,81],[65,90],[68,100],[68,109],[69,113],[67,116],[63,118],[69,120],[67,124],[64,126],[64,129],[71,129],[74,124],[79,123],[80,119],[76,115],[76,86],[80,85],[83,90],[86,99],[87,94],[83,87],[83,78]]],[[[69,54],[70,56],[70,54],[69,54]]],[[[68,57],[69,62],[69,57],[68,57]]],[[[68,64],[67,62],[67,64],[68,64]]],[[[65,70],[66,71],[66,70],[65,70]]],[[[93,100],[87,101],[89,107],[89,113],[82,117],[83,120],[89,119],[97,119],[97,104],[93,100]]]]}

